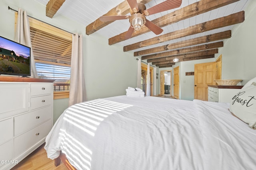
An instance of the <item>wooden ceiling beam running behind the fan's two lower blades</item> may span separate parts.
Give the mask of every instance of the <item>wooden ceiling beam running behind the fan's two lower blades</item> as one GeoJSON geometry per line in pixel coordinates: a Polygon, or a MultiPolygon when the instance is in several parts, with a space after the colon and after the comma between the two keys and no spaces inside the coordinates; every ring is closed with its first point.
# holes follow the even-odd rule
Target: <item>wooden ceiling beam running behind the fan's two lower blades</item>
{"type": "MultiPolygon", "coordinates": [[[[155,20],[152,20],[152,22],[158,25],[159,27],[164,27],[172,23],[176,23],[178,21],[185,20],[187,18],[191,18],[199,14],[203,14],[204,12],[208,12],[208,11],[220,8],[222,6],[232,4],[237,1],[239,0],[200,0],[199,2],[195,2],[194,4],[190,4],[184,8],[181,8],[179,10],[166,14],[165,16],[156,18],[155,20]]],[[[140,31],[135,31],[132,34],[132,37],[142,35],[149,31],[150,29],[144,26],[140,29],[140,31]]],[[[119,35],[116,35],[114,37],[111,37],[110,39],[108,39],[108,44],[113,45],[115,43],[124,41],[126,33],[127,31],[119,35]]]]}

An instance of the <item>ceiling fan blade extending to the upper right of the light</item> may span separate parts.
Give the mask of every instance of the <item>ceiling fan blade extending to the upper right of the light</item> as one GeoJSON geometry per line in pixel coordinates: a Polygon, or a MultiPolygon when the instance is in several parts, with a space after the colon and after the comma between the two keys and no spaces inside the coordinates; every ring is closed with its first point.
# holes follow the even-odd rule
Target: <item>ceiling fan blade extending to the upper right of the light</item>
{"type": "Polygon", "coordinates": [[[173,8],[178,8],[181,5],[181,3],[182,3],[182,0],[166,0],[164,2],[161,2],[160,4],[157,4],[156,6],[153,6],[145,10],[144,15],[149,16],[149,15],[170,10],[173,8]]]}

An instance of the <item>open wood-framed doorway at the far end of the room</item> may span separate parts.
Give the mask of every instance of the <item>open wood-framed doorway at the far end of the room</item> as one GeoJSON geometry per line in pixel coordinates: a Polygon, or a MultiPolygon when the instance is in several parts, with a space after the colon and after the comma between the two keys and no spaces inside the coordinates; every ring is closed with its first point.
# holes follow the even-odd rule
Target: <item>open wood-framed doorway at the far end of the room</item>
{"type": "Polygon", "coordinates": [[[160,94],[165,96],[172,96],[172,70],[160,71],[160,94]]]}

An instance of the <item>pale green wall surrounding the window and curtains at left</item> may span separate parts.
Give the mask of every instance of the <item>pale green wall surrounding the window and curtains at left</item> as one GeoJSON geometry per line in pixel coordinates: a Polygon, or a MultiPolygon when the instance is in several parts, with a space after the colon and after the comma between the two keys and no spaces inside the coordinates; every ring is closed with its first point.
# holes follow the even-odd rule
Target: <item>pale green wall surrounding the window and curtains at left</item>
{"type": "MultiPolygon", "coordinates": [[[[22,8],[29,16],[83,36],[84,66],[87,99],[124,95],[128,86],[136,86],[137,62],[133,53],[124,53],[120,45],[108,45],[108,38],[97,32],[85,34],[86,25],[56,14],[45,15],[46,7],[34,0],[0,0],[0,35],[14,39],[14,10],[22,8]]],[[[104,28],[103,28],[104,29],[104,28]]],[[[68,99],[54,100],[54,122],[68,107],[68,99]]]]}

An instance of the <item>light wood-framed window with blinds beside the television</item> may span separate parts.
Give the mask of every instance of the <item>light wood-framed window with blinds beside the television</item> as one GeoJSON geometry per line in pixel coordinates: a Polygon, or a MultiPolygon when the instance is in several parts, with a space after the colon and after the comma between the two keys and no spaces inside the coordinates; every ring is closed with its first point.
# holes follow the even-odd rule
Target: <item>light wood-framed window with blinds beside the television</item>
{"type": "Polygon", "coordinates": [[[29,24],[38,78],[55,79],[54,99],[68,98],[72,34],[30,17],[29,24]]]}

